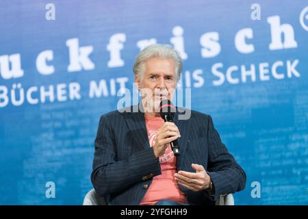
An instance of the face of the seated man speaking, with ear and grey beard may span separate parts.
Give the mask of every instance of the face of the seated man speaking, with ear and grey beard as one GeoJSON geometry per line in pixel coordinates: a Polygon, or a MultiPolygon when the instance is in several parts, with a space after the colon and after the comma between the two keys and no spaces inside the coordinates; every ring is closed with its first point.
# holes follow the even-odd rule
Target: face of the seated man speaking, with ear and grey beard
{"type": "Polygon", "coordinates": [[[138,83],[146,110],[157,110],[159,103],[163,99],[171,100],[175,92],[175,61],[160,57],[147,60],[144,74],[140,80],[136,76],[135,82],[138,83]]]}

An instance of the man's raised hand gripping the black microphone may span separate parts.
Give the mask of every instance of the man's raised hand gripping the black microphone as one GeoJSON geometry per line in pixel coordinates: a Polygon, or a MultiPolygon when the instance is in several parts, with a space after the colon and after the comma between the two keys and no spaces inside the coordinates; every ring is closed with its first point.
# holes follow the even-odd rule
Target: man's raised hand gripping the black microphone
{"type": "Polygon", "coordinates": [[[175,123],[166,122],[156,133],[156,140],[153,146],[154,155],[156,158],[164,155],[168,147],[168,143],[181,137],[179,129],[175,123]]]}

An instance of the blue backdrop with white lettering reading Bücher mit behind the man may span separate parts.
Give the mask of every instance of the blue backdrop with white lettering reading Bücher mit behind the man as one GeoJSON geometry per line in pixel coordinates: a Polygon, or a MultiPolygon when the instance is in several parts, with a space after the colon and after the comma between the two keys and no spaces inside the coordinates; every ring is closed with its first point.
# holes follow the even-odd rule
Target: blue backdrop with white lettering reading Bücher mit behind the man
{"type": "Polygon", "coordinates": [[[0,204],[82,203],[99,117],[159,42],[246,171],[235,204],[307,205],[308,2],[254,3],[1,0],[0,204]]]}

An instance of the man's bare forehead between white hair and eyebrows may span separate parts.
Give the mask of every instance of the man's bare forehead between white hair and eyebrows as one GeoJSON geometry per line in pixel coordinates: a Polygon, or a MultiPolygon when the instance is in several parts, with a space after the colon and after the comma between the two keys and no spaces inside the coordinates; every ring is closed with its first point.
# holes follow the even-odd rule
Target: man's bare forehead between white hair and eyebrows
{"type": "Polygon", "coordinates": [[[168,58],[153,57],[145,62],[145,73],[175,74],[175,61],[168,58]]]}

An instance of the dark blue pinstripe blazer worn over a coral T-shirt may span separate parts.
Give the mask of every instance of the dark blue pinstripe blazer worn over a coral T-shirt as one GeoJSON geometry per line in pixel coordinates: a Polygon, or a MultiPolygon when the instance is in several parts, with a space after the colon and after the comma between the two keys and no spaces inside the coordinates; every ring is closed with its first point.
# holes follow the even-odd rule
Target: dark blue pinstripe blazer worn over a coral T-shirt
{"type": "MultiPolygon", "coordinates": [[[[149,144],[144,114],[136,110],[138,105],[125,108],[125,112],[107,113],[99,120],[91,181],[109,205],[139,205],[153,177],[161,174],[149,144]]],[[[222,144],[211,116],[177,107],[174,122],[181,133],[177,170],[195,172],[191,164],[201,164],[215,188],[210,195],[180,186],[188,203],[211,205],[220,196],[244,189],[245,172],[222,144]],[[190,119],[179,119],[187,113],[190,119]]]]}

